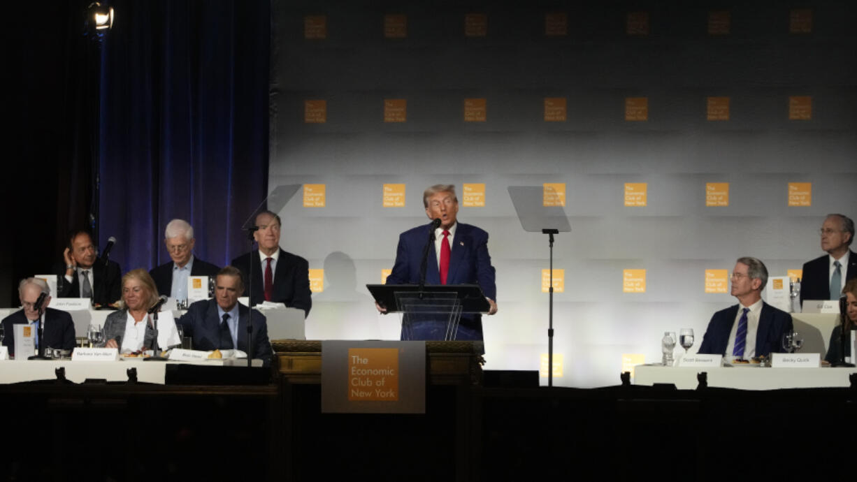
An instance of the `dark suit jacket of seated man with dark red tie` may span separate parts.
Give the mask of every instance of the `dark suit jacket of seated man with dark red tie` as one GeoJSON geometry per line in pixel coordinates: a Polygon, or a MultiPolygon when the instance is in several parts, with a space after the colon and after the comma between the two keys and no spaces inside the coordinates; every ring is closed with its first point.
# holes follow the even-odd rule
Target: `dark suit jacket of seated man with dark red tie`
{"type": "MultiPolygon", "coordinates": [[[[255,306],[265,301],[265,278],[259,251],[243,254],[232,259],[232,265],[241,270],[244,276],[244,289],[248,288],[250,262],[253,262],[253,299],[255,306]]],[[[245,292],[246,295],[246,292],[245,292]]],[[[273,297],[271,301],[285,303],[285,306],[300,308],[309,315],[313,306],[312,292],[309,291],[309,263],[306,259],[279,250],[277,266],[273,271],[273,297]]]]}

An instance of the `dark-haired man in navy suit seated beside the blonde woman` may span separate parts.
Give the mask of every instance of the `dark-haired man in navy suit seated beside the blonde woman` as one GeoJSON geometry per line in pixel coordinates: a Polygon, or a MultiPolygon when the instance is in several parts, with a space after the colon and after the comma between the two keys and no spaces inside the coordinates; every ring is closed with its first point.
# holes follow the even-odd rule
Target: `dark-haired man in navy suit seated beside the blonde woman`
{"type": "Polygon", "coordinates": [[[193,340],[194,349],[237,348],[249,355],[247,323],[251,321],[253,358],[261,359],[266,365],[270,363],[273,350],[267,338],[265,316],[238,303],[238,297],[244,292],[241,271],[226,266],[218,271],[214,284],[214,299],[196,301],[178,320],[185,336],[193,340]]]}

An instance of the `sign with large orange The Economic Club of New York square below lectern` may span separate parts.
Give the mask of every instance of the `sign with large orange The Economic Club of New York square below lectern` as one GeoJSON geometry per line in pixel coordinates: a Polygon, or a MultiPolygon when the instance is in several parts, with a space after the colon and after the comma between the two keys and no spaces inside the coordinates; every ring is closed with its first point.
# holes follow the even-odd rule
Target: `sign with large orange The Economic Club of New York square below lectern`
{"type": "Polygon", "coordinates": [[[425,342],[321,342],[321,412],[425,414],[425,374],[425,342]]]}

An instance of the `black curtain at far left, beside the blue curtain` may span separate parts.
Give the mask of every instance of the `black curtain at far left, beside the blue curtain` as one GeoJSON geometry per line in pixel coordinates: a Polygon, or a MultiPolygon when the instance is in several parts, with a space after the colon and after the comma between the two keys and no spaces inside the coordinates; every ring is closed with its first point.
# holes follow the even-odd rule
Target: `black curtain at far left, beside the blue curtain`
{"type": "Polygon", "coordinates": [[[87,226],[96,124],[98,47],[84,36],[91,0],[9,3],[0,306],[19,306],[24,277],[51,272],[69,229],[87,226]],[[35,17],[33,16],[35,15],[35,17]]]}

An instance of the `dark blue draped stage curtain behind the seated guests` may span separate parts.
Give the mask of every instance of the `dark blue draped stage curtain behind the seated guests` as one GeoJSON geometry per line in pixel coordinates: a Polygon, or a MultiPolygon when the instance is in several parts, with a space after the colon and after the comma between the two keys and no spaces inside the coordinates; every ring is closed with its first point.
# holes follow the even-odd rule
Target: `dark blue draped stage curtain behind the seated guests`
{"type": "Polygon", "coordinates": [[[164,228],[194,226],[195,253],[249,251],[242,224],[267,195],[267,0],[124,0],[105,39],[99,240],[123,272],[170,260],[164,228]]]}

